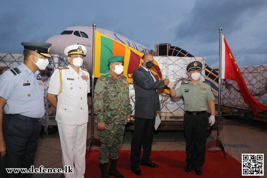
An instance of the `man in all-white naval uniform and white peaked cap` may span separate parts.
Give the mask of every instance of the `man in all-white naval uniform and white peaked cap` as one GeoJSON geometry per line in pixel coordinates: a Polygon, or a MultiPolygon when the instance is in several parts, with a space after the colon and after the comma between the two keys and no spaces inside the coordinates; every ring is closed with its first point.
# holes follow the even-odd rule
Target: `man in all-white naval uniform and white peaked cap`
{"type": "Polygon", "coordinates": [[[71,45],[64,50],[69,66],[58,67],[50,78],[47,100],[57,109],[63,166],[75,169],[66,178],[80,178],[85,173],[85,151],[88,122],[87,93],[90,80],[87,70],[80,68],[86,48],[71,45]],[[58,100],[56,99],[58,95],[58,100]]]}

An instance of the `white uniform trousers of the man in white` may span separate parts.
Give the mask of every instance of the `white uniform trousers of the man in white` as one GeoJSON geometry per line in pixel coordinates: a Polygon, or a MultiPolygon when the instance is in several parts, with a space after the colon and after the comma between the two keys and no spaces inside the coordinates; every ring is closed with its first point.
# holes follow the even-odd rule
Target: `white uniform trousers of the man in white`
{"type": "Polygon", "coordinates": [[[85,173],[87,123],[82,125],[58,123],[58,132],[63,167],[71,166],[73,168],[73,173],[64,173],[65,178],[83,178],[85,173]]]}

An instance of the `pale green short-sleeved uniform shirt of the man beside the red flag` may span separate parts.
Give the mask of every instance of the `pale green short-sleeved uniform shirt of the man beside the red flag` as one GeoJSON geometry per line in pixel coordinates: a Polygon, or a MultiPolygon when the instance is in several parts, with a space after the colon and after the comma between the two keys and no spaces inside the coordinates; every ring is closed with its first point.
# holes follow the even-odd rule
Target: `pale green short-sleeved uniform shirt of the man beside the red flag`
{"type": "Polygon", "coordinates": [[[185,111],[206,111],[207,101],[214,100],[214,96],[209,83],[198,81],[196,85],[189,83],[181,84],[175,90],[178,97],[183,96],[185,100],[185,111]]]}

